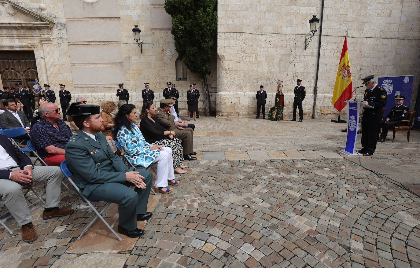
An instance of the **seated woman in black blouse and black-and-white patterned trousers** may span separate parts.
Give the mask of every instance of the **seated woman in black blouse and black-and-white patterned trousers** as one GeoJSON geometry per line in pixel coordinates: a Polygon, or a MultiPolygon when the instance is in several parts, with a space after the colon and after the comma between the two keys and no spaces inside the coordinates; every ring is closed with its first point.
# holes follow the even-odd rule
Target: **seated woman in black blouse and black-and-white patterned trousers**
{"type": "Polygon", "coordinates": [[[183,168],[184,148],[181,145],[181,140],[175,138],[174,131],[168,131],[156,122],[152,116],[156,113],[156,107],[151,101],[144,102],[142,107],[142,113],[140,114],[140,131],[142,131],[143,137],[146,142],[152,145],[165,146],[172,149],[173,157],[173,171],[178,174],[184,174],[186,171],[183,168]]]}

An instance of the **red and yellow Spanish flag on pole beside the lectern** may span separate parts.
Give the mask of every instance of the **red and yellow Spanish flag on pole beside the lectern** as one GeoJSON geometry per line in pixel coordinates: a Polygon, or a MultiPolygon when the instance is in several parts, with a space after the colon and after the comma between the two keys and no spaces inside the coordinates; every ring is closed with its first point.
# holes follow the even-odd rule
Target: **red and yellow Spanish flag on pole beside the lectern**
{"type": "Polygon", "coordinates": [[[347,37],[344,38],[343,50],[341,50],[341,58],[339,69],[337,71],[336,84],[334,85],[333,99],[331,103],[341,112],[346,106],[346,102],[353,97],[352,73],[350,72],[349,50],[347,49],[347,37]]]}

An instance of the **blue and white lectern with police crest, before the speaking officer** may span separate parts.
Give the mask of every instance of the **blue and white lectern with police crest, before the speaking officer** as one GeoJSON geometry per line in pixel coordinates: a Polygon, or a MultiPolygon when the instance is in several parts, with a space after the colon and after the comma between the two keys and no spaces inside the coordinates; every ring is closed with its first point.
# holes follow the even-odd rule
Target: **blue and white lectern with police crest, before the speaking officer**
{"type": "Polygon", "coordinates": [[[355,152],[354,147],[356,146],[357,140],[357,126],[359,126],[359,109],[360,108],[373,108],[372,106],[363,104],[362,102],[354,100],[343,100],[347,102],[347,139],[346,147],[344,150],[339,152],[344,153],[348,156],[360,156],[361,153],[355,152]]]}

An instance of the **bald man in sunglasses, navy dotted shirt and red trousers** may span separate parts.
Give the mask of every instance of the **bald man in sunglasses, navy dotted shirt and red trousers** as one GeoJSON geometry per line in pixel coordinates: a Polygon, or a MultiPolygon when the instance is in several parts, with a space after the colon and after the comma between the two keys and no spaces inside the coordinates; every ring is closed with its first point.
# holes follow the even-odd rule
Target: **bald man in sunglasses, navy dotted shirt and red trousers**
{"type": "Polygon", "coordinates": [[[67,124],[60,119],[60,108],[54,103],[42,104],[38,113],[41,120],[32,127],[31,142],[48,166],[60,166],[66,160],[64,149],[73,135],[67,124]]]}

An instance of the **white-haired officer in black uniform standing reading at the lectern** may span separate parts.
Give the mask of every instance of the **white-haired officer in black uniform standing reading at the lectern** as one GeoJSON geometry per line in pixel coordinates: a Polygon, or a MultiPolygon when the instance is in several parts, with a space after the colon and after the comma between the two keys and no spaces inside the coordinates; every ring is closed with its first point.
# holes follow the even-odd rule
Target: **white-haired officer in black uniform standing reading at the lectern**
{"type": "Polygon", "coordinates": [[[373,155],[378,141],[379,122],[382,120],[382,108],[386,105],[386,90],[375,83],[375,76],[370,75],[362,79],[366,86],[363,104],[372,106],[365,107],[362,113],[362,155],[373,155]]]}

